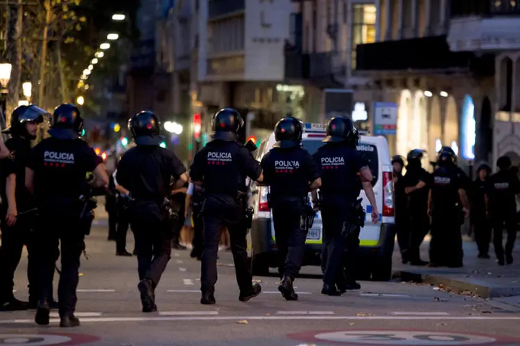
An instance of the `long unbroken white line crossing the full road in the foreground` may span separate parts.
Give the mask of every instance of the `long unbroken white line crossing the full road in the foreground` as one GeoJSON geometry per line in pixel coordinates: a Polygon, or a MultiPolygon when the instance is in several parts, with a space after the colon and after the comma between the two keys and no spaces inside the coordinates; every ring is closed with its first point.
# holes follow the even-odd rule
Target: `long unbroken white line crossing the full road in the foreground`
{"type": "MultiPolygon", "coordinates": [[[[520,321],[520,316],[421,316],[422,320],[480,320],[480,321],[520,321]]],[[[88,322],[146,322],[146,321],[213,321],[213,320],[417,320],[417,316],[160,316],[160,317],[92,317],[82,318],[88,322]]],[[[0,320],[0,325],[26,324],[33,319],[0,320]]],[[[51,318],[51,323],[60,322],[59,318],[51,318]]]]}

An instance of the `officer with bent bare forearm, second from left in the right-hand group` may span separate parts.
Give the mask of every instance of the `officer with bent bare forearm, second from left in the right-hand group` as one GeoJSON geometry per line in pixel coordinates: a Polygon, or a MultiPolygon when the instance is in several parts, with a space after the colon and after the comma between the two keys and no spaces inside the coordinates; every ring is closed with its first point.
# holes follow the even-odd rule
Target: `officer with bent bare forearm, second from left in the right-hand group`
{"type": "Polygon", "coordinates": [[[428,192],[431,185],[431,175],[424,170],[421,164],[424,151],[413,149],[406,156],[406,174],[404,175],[404,192],[408,196],[408,217],[410,239],[405,258],[413,266],[426,266],[428,262],[421,260],[419,246],[428,231],[428,192]]]}

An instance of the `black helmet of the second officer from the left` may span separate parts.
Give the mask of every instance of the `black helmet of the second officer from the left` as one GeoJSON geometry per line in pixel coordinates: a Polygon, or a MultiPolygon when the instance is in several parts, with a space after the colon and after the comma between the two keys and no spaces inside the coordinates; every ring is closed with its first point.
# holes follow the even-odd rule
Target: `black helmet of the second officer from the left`
{"type": "Polygon", "coordinates": [[[52,127],[49,134],[54,138],[76,139],[83,130],[83,119],[78,107],[74,104],[62,104],[53,112],[52,127]]]}

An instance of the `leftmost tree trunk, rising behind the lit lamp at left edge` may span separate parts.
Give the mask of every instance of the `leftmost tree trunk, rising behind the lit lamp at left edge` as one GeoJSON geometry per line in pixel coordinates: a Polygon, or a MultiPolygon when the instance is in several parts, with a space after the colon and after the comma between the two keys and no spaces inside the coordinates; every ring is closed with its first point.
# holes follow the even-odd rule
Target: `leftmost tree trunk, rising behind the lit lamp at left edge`
{"type": "Polygon", "coordinates": [[[18,5],[10,5],[8,10],[7,57],[12,65],[11,78],[8,84],[6,123],[10,125],[12,110],[18,107],[21,84],[21,26],[24,13],[21,0],[18,5]]]}

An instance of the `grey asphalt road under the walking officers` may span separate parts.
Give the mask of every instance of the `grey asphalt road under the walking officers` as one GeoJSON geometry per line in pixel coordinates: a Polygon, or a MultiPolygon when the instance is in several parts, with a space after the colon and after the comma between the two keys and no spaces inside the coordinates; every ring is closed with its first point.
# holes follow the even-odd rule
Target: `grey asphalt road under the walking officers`
{"type": "MultiPolygon", "coordinates": [[[[77,316],[82,325],[49,327],[34,311],[0,313],[0,345],[520,345],[520,316],[489,300],[450,295],[432,286],[361,282],[341,297],[320,294],[318,268],[295,282],[297,302],[286,302],[278,279],[255,277],[263,293],[239,302],[231,254],[220,253],[217,304],[200,300],[200,262],[174,251],[157,287],[157,313],[141,313],[137,260],[116,257],[106,231],[95,228],[83,259],[77,316]]],[[[132,249],[132,239],[129,237],[132,249]]],[[[15,295],[26,298],[25,260],[15,295]]],[[[57,277],[56,277],[57,278],[57,277]]],[[[56,280],[57,281],[57,280],[56,280]]]]}

